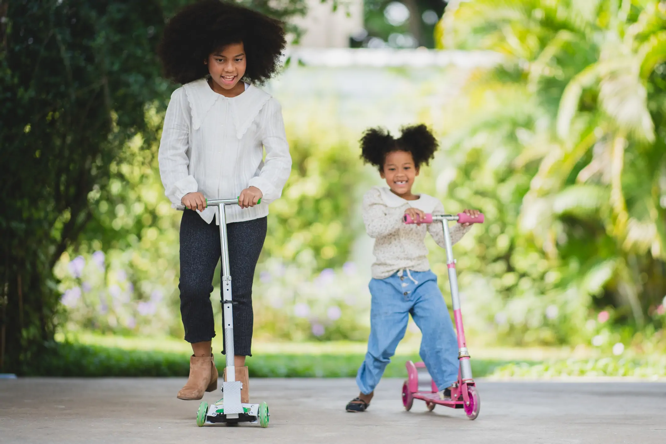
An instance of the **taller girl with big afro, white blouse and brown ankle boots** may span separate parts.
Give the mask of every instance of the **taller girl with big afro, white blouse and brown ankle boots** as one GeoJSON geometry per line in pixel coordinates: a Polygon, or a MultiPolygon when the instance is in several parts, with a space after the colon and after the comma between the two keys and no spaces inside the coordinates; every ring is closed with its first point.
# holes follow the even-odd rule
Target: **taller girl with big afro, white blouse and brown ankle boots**
{"type": "Polygon", "coordinates": [[[220,231],[206,198],[240,196],[226,218],[236,381],[243,383],[241,401],[249,403],[245,357],[251,355],[252,280],[266,238],[268,204],[280,197],[292,163],[280,104],[255,85],[278,71],[285,43],[280,21],[234,3],[204,0],[168,22],[159,46],[166,77],[182,84],[171,95],[159,148],[165,194],[173,208],[184,210],[178,288],[193,354],[179,399],[201,399],[218,386],[210,292],[220,231]]]}

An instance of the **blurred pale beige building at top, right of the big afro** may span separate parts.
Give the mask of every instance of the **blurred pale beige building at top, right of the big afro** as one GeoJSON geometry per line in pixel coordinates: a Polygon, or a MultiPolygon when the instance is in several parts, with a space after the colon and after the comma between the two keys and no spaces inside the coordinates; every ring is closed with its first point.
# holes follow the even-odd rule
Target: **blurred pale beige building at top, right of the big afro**
{"type": "Polygon", "coordinates": [[[306,17],[294,19],[305,35],[300,40],[304,48],[348,48],[352,34],[363,31],[363,0],[340,0],[333,12],[331,0],[307,0],[306,17]]]}

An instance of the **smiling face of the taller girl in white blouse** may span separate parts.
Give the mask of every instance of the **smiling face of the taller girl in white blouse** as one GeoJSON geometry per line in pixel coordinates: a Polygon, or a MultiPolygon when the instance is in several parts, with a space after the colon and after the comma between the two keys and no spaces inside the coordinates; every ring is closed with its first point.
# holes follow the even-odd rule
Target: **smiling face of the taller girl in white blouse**
{"type": "Polygon", "coordinates": [[[208,73],[212,90],[224,96],[234,97],[245,91],[240,79],[245,75],[247,61],[242,43],[232,43],[208,55],[208,73]]]}

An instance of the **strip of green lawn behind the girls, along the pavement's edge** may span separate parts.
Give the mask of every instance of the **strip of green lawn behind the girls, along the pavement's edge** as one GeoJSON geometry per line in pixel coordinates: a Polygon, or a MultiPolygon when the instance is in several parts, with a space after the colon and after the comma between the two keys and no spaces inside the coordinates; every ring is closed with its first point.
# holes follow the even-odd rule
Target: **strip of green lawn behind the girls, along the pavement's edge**
{"type": "MultiPolygon", "coordinates": [[[[213,340],[218,369],[224,367],[221,337],[213,340]]],[[[306,342],[252,345],[247,363],[252,377],[354,377],[363,361],[365,343],[306,342]]],[[[548,378],[563,376],[666,377],[666,356],[592,356],[577,348],[470,349],[475,377],[548,378]]],[[[39,359],[24,365],[21,375],[80,377],[184,377],[189,371],[189,344],[171,337],[122,337],[79,333],[50,343],[39,359]]],[[[405,361],[420,361],[418,343],[401,343],[387,377],[406,377],[405,361]]]]}

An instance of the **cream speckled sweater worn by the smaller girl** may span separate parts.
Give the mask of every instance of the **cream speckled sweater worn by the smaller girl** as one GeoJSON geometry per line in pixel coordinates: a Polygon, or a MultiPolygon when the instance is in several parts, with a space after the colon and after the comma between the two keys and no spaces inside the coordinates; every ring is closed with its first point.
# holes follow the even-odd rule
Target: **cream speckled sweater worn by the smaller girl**
{"type": "MultiPolygon", "coordinates": [[[[444,214],[444,205],[437,198],[421,194],[417,200],[404,200],[393,194],[387,186],[374,186],[363,196],[363,222],[366,232],[375,238],[372,277],[388,278],[398,270],[427,272],[428,248],[424,240],[426,231],[444,248],[442,224],[407,225],[402,216],[409,207],[426,213],[444,214]]],[[[456,224],[451,227],[451,242],[458,242],[472,228],[456,224]]]]}

